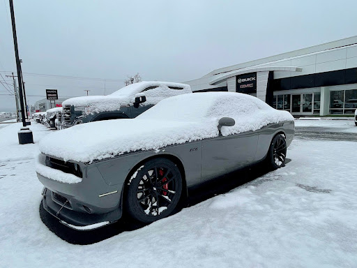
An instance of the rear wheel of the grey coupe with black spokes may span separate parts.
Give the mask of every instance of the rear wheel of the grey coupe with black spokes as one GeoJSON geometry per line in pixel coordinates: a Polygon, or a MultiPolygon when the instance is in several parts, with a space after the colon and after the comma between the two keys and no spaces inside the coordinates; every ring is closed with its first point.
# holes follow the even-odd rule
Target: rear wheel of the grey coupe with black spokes
{"type": "Polygon", "coordinates": [[[277,170],[285,166],[287,157],[287,141],[282,134],[275,135],[268,150],[267,163],[271,170],[277,170]]]}

